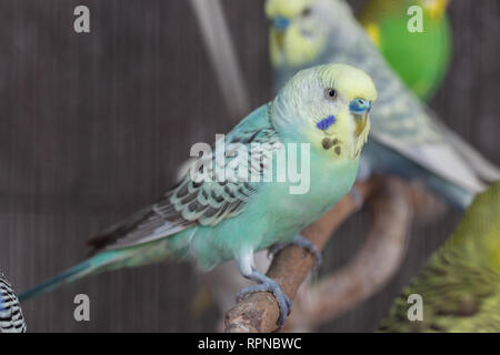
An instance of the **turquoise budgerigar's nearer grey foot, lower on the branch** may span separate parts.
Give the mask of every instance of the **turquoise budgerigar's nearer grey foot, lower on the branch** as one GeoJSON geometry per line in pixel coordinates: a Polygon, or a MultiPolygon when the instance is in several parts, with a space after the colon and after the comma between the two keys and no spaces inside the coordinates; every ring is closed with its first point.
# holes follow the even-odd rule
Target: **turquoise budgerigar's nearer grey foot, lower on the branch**
{"type": "Polygon", "coordinates": [[[270,292],[274,295],[276,301],[278,302],[278,306],[280,307],[280,318],[278,320],[278,329],[280,329],[284,323],[287,322],[287,316],[291,312],[292,302],[284,294],[278,283],[269,278],[266,275],[262,275],[257,271],[257,268],[252,267],[252,273],[250,275],[243,275],[246,278],[257,282],[257,285],[251,285],[250,287],[241,288],[237,295],[237,302],[239,302],[244,295],[249,293],[256,292],[270,292]]]}

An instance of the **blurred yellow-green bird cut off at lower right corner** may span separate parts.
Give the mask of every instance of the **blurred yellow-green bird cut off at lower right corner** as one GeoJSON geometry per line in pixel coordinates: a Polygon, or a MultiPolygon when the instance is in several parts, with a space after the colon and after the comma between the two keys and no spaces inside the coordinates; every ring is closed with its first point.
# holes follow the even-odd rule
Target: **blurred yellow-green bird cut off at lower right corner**
{"type": "Polygon", "coordinates": [[[383,332],[500,332],[500,183],[478,195],[451,237],[398,297],[383,332]],[[422,297],[409,321],[408,297],[422,297]]]}

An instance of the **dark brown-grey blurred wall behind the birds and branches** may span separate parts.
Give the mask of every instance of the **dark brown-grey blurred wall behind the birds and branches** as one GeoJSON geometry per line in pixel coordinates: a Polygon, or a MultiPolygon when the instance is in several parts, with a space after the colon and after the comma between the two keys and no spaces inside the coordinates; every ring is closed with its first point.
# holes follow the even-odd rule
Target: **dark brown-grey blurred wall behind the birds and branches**
{"type": "MultiPolygon", "coordinates": [[[[350,1],[360,9],[363,1],[350,1]]],[[[222,0],[253,108],[271,99],[263,0],[222,0]]],[[[500,165],[500,3],[451,1],[451,69],[430,102],[500,165]]],[[[158,199],[192,143],[234,123],[184,0],[0,0],[0,270],[17,291],[83,260],[89,235],[158,199]],[[91,33],[73,31],[86,4],[91,33]]],[[[364,211],[330,241],[322,272],[367,234],[364,211]]],[[[324,332],[371,332],[459,215],[413,227],[392,281],[324,332]]],[[[200,280],[188,263],[104,273],[23,305],[31,332],[213,331],[221,311],[190,311],[200,280]],[[73,320],[73,297],[91,321],[73,320]]]]}

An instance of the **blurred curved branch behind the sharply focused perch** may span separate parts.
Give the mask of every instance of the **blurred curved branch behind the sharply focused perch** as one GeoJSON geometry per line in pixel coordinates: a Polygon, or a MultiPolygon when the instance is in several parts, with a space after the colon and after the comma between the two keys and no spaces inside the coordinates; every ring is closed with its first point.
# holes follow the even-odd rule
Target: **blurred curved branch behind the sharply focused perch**
{"type": "Polygon", "coordinates": [[[339,272],[304,290],[303,296],[301,293],[284,331],[312,331],[367,300],[390,280],[406,252],[411,201],[409,187],[387,179],[369,203],[373,222],[357,256],[339,272]]]}

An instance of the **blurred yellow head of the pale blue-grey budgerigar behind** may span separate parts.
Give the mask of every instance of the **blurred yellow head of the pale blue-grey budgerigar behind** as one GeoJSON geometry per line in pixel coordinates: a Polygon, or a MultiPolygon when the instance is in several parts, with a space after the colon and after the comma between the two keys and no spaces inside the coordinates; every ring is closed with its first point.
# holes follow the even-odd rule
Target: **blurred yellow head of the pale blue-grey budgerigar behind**
{"type": "Polygon", "coordinates": [[[327,36],[311,16],[311,0],[268,0],[266,14],[272,21],[270,55],[273,65],[299,67],[314,60],[327,36]]]}

